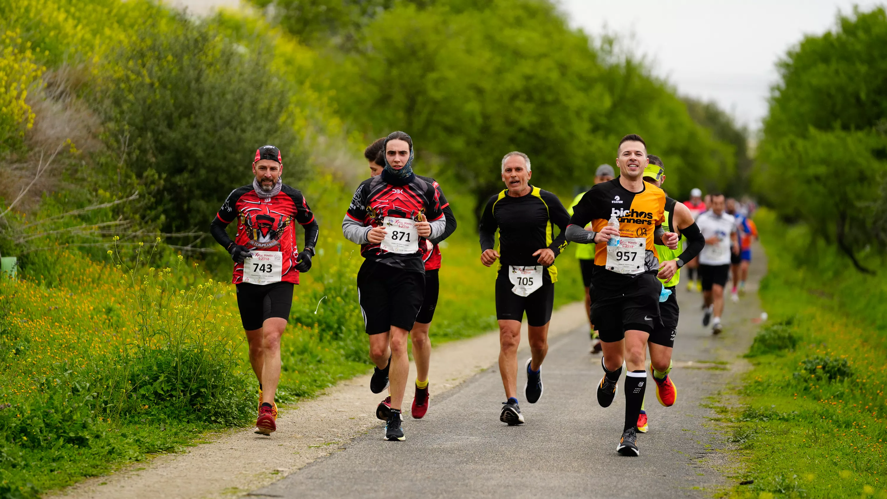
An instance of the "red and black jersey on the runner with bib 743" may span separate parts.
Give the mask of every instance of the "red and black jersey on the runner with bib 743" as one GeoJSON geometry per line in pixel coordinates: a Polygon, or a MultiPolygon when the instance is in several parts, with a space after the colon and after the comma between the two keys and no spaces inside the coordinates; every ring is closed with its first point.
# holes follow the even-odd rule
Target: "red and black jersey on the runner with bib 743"
{"type": "MultiPolygon", "coordinates": [[[[225,225],[236,218],[237,236],[234,243],[258,251],[284,253],[281,281],[299,284],[299,271],[294,269],[299,247],[295,240],[295,225],[314,221],[314,214],[302,192],[284,184],[277,196],[260,198],[253,185],[239,187],[228,195],[216,218],[225,225]]],[[[232,283],[243,282],[243,264],[234,264],[232,283]]]]}

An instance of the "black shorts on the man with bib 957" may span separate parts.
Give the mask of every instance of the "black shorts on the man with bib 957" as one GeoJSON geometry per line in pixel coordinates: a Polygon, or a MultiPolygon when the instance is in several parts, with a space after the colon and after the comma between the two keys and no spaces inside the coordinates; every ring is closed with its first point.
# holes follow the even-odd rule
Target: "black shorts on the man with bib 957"
{"type": "Polygon", "coordinates": [[[653,332],[659,324],[659,292],[662,285],[652,274],[635,277],[631,284],[613,292],[594,286],[592,324],[604,342],[625,338],[625,331],[653,332]]]}

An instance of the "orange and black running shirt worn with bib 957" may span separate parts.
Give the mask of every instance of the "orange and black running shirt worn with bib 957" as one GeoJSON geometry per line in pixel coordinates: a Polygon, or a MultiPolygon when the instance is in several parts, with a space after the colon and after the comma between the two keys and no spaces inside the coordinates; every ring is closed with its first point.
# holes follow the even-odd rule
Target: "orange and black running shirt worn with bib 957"
{"type": "MultiPolygon", "coordinates": [[[[656,274],[659,271],[659,256],[653,242],[655,228],[665,220],[665,192],[651,183],[644,183],[644,190],[632,192],[625,189],[619,178],[598,183],[579,203],[573,207],[570,225],[585,227],[592,223],[592,230],[600,232],[607,226],[611,216],[619,219],[619,233],[622,238],[646,238],[644,273],[656,274]]],[[[593,283],[611,289],[631,282],[634,277],[605,269],[607,264],[607,243],[598,243],[594,248],[593,283]]],[[[639,274],[640,275],[640,274],[639,274]]]]}

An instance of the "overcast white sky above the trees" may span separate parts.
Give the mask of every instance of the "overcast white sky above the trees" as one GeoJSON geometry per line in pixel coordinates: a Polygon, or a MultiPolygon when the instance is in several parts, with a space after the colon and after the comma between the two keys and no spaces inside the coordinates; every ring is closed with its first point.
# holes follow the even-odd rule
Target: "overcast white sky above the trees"
{"type": "Polygon", "coordinates": [[[835,26],[844,0],[560,0],[570,24],[590,35],[633,36],[633,51],[654,63],[681,94],[714,100],[742,124],[759,128],[774,65],[806,34],[835,26]]]}

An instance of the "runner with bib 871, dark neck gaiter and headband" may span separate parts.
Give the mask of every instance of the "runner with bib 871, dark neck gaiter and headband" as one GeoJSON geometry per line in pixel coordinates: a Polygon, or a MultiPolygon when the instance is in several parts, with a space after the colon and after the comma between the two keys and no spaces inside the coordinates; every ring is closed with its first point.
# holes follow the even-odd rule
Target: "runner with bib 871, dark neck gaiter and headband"
{"type": "Polygon", "coordinates": [[[438,191],[412,171],[412,138],[392,132],[383,145],[385,167],[357,187],[341,230],[361,245],[365,258],[357,272],[357,292],[376,364],[370,390],[381,393],[390,378],[385,440],[404,441],[401,406],[410,371],[406,341],[425,296],[422,255],[426,238],[440,238],[446,221],[438,191]]]}

